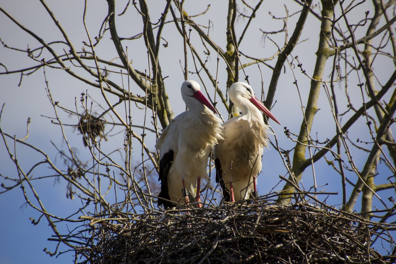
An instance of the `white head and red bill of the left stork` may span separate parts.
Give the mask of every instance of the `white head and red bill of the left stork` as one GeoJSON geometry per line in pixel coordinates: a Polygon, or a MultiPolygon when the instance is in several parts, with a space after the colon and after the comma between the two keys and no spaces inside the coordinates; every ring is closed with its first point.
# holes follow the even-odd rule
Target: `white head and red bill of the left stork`
{"type": "Polygon", "coordinates": [[[201,105],[206,105],[211,111],[217,114],[213,105],[201,93],[201,87],[198,82],[194,80],[186,80],[183,82],[181,85],[181,97],[189,109],[199,107],[199,104],[197,104],[199,102],[201,105]]]}

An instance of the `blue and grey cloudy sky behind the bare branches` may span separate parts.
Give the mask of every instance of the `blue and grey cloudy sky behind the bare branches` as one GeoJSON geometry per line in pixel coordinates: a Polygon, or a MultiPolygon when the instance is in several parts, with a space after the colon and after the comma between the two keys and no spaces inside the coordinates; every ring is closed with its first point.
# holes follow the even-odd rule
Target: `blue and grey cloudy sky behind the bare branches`
{"type": "MultiPolygon", "coordinates": [[[[117,1],[118,13],[121,13],[126,2],[127,1],[117,1]]],[[[211,1],[201,1],[199,4],[197,4],[197,2],[186,1],[185,9],[189,14],[200,13],[206,9],[206,2],[209,3],[211,1]]],[[[293,4],[292,1],[285,1],[285,3],[291,10],[290,13],[294,12],[292,11],[293,8],[296,10],[297,5],[293,4]]],[[[65,31],[70,34],[69,36],[72,42],[76,45],[76,48],[81,49],[83,46],[82,41],[87,40],[82,24],[84,2],[76,0],[67,2],[51,0],[48,1],[48,5],[53,10],[57,19],[59,19],[59,22],[64,27],[65,31]]],[[[240,46],[240,50],[249,50],[251,54],[255,54],[257,57],[270,57],[274,52],[276,52],[276,46],[274,46],[268,38],[264,40],[263,35],[258,31],[258,28],[267,30],[281,29],[283,27],[283,21],[280,20],[278,22],[274,22],[271,19],[271,15],[268,14],[268,11],[270,10],[276,16],[283,16],[285,15],[285,9],[283,3],[274,4],[274,2],[272,2],[272,4],[268,6],[268,3],[265,2],[263,5],[265,6],[261,7],[257,17],[253,19],[250,27],[251,30],[249,29],[247,32],[245,40],[240,46]]],[[[29,0],[3,1],[0,6],[45,41],[50,42],[62,38],[40,2],[29,0]]],[[[150,8],[152,8],[151,18],[156,21],[162,12],[163,4],[158,6],[156,4],[152,4],[150,8]]],[[[370,7],[362,6],[359,10],[365,10],[364,8],[370,7]]],[[[225,46],[224,33],[226,11],[227,10],[221,3],[215,2],[212,3],[207,14],[195,18],[196,21],[202,25],[207,25],[209,19],[213,22],[213,27],[209,31],[209,35],[222,47],[225,46]],[[220,12],[219,10],[223,11],[220,12]]],[[[106,1],[88,1],[87,25],[92,36],[96,36],[97,32],[99,32],[100,23],[103,21],[106,13],[106,1]]],[[[295,23],[295,19],[297,19],[296,16],[291,17],[289,19],[289,25],[293,25],[293,23],[295,23]]],[[[141,31],[141,17],[133,7],[129,8],[126,16],[119,18],[117,21],[120,22],[118,23],[118,33],[121,36],[133,36],[141,31]]],[[[301,36],[301,40],[305,41],[300,43],[293,51],[293,56],[299,56],[299,60],[303,63],[303,67],[308,74],[312,74],[314,69],[315,52],[317,50],[318,36],[320,34],[318,32],[318,23],[319,22],[314,17],[308,17],[306,27],[301,36]]],[[[36,40],[16,27],[15,24],[13,24],[3,13],[0,13],[0,24],[2,25],[0,28],[0,37],[8,46],[20,49],[26,49],[28,44],[30,48],[38,46],[36,40]]],[[[239,35],[243,28],[241,26],[242,23],[238,25],[237,34],[239,35]]],[[[291,33],[289,32],[289,36],[290,34],[291,33]]],[[[180,85],[183,82],[183,73],[180,66],[180,61],[183,61],[183,54],[180,51],[183,49],[183,46],[180,41],[180,35],[175,31],[174,27],[166,27],[163,37],[169,42],[169,46],[168,48],[162,48],[160,53],[160,59],[163,61],[162,71],[164,76],[169,76],[166,79],[166,87],[168,89],[169,100],[173,107],[173,111],[175,115],[177,115],[185,110],[185,105],[182,103],[180,95],[180,85]]],[[[97,54],[104,59],[117,57],[116,51],[111,45],[109,38],[109,33],[107,33],[102,44],[96,48],[97,54]]],[[[274,38],[278,43],[282,43],[284,35],[282,37],[279,36],[274,38]]],[[[192,40],[200,42],[195,35],[192,35],[192,40]]],[[[130,42],[130,44],[128,42],[127,45],[129,46],[129,56],[133,59],[134,67],[141,71],[148,69],[145,49],[143,49],[142,52],[144,44],[141,41],[137,41],[130,42]]],[[[202,46],[199,46],[199,49],[204,50],[202,46]]],[[[329,72],[331,70],[331,62],[332,61],[329,60],[326,66],[326,70],[329,72]]],[[[8,70],[15,70],[37,64],[27,58],[25,54],[20,54],[19,52],[11,51],[4,47],[0,47],[0,63],[6,65],[8,70]]],[[[194,69],[191,59],[189,63],[190,69],[194,69]]],[[[274,65],[275,61],[269,63],[274,65]]],[[[215,73],[215,69],[217,67],[216,54],[211,54],[208,58],[208,67],[213,71],[213,73],[215,73]]],[[[394,67],[392,68],[390,65],[385,63],[382,65],[379,63],[376,67],[376,74],[380,80],[383,80],[394,71],[394,67]]],[[[219,88],[225,90],[225,65],[221,63],[219,65],[219,69],[219,88]]],[[[259,97],[261,90],[261,76],[263,76],[264,90],[267,91],[270,82],[271,70],[264,65],[261,65],[260,69],[253,65],[245,70],[247,75],[249,75],[251,86],[255,90],[257,97],[259,97]]],[[[295,143],[291,142],[286,138],[286,136],[284,136],[283,127],[287,126],[291,131],[298,133],[302,120],[302,111],[297,89],[293,85],[294,79],[291,75],[291,69],[287,65],[285,67],[285,71],[286,73],[281,75],[278,83],[278,91],[275,97],[277,102],[275,107],[272,109],[272,113],[282,123],[282,126],[277,124],[272,124],[272,126],[276,136],[278,137],[280,146],[283,149],[291,149],[295,143]]],[[[307,103],[310,80],[302,75],[299,69],[294,69],[294,73],[297,76],[301,96],[303,98],[303,104],[305,105],[307,103]]],[[[103,99],[101,99],[100,91],[94,90],[90,86],[74,80],[64,71],[49,69],[49,67],[46,67],[46,76],[48,78],[49,88],[54,100],[59,101],[61,105],[65,107],[75,109],[75,98],[77,98],[78,101],[81,92],[85,92],[86,89],[88,89],[89,94],[95,98],[98,103],[104,104],[103,99]]],[[[240,72],[240,76],[240,80],[243,80],[242,71],[240,72]]],[[[195,79],[196,75],[190,74],[189,78],[195,79]]],[[[198,79],[196,80],[199,81],[198,79]]],[[[211,89],[211,85],[207,79],[204,79],[204,81],[211,91],[209,94],[211,94],[213,98],[213,89],[211,89]]],[[[118,80],[118,82],[120,82],[120,80],[118,80]]],[[[23,77],[20,87],[17,87],[18,83],[19,74],[0,75],[0,103],[6,103],[1,119],[2,129],[4,129],[8,134],[15,134],[16,138],[23,138],[26,134],[26,121],[30,117],[30,135],[27,143],[39,146],[48,154],[50,159],[56,162],[57,166],[61,166],[61,161],[57,159],[57,150],[53,147],[51,142],[59,147],[64,147],[64,142],[63,138],[59,134],[59,126],[51,124],[50,120],[45,117],[53,117],[53,109],[45,91],[46,84],[44,82],[42,69],[28,77],[23,77]]],[[[351,77],[349,83],[349,94],[352,101],[356,103],[356,107],[360,107],[358,104],[361,103],[361,94],[360,90],[356,86],[356,77],[351,77]]],[[[133,85],[132,89],[136,94],[143,94],[133,85]]],[[[344,88],[337,87],[336,90],[339,104],[341,105],[340,112],[342,112],[345,110],[346,105],[344,88]]],[[[112,98],[111,96],[109,98],[115,100],[115,98],[112,98]]],[[[311,136],[313,138],[316,138],[317,136],[318,140],[323,142],[326,138],[332,138],[335,134],[335,126],[333,122],[331,122],[332,116],[329,110],[329,103],[323,90],[321,91],[319,105],[321,110],[315,117],[316,122],[314,122],[312,127],[311,136]]],[[[97,107],[97,109],[99,109],[99,107],[97,107]]],[[[222,116],[226,118],[227,113],[225,108],[220,107],[220,111],[222,116]]],[[[136,110],[136,115],[133,116],[135,124],[141,124],[143,122],[144,113],[142,113],[143,112],[136,110]]],[[[67,124],[76,124],[76,120],[71,119],[67,114],[60,113],[60,115],[63,122],[67,124]]],[[[147,117],[149,117],[149,114],[147,117]]],[[[80,155],[83,157],[84,155],[89,157],[89,152],[84,149],[81,144],[81,136],[77,135],[72,128],[67,128],[65,131],[70,144],[78,147],[80,155]]],[[[118,131],[121,131],[121,129],[118,129],[113,134],[118,131]]],[[[364,120],[357,122],[356,125],[351,128],[349,136],[352,141],[356,141],[357,138],[369,141],[369,131],[364,120]]],[[[273,140],[274,138],[270,136],[270,139],[273,140]]],[[[123,134],[121,133],[118,136],[112,137],[109,142],[103,142],[103,148],[109,151],[114,149],[115,146],[120,148],[123,145],[123,140],[123,134]]],[[[12,145],[11,141],[8,143],[12,145]]],[[[155,136],[152,134],[149,135],[146,143],[148,147],[153,149],[155,136]]],[[[138,144],[135,143],[134,146],[134,155],[136,155],[135,159],[139,161],[140,151],[138,144]]],[[[356,165],[359,169],[362,169],[366,159],[366,154],[357,151],[357,149],[353,147],[352,151],[356,165]]],[[[17,157],[19,161],[23,161],[23,166],[26,169],[30,168],[32,164],[40,161],[40,159],[43,159],[42,156],[21,145],[17,146],[17,157]]],[[[331,158],[330,156],[328,157],[331,158]]],[[[339,191],[341,193],[341,177],[327,166],[326,162],[320,161],[316,163],[315,172],[318,185],[324,186],[319,189],[326,189],[326,191],[339,191]],[[328,185],[326,186],[326,184],[328,185]]],[[[377,178],[381,182],[386,182],[386,178],[391,176],[390,171],[385,168],[385,166],[381,166],[379,168],[379,172],[381,174],[377,178]]],[[[0,143],[0,173],[2,175],[10,175],[13,177],[16,175],[15,165],[10,162],[3,142],[0,143]]],[[[49,170],[45,167],[39,167],[35,171],[36,176],[46,176],[49,173],[49,170]]],[[[263,159],[263,173],[259,176],[258,180],[259,193],[268,193],[272,187],[276,186],[279,182],[278,175],[285,176],[286,173],[287,170],[283,166],[280,155],[272,148],[265,151],[263,159]]],[[[348,177],[352,182],[356,182],[357,178],[353,173],[348,174],[348,177]]],[[[0,182],[4,182],[4,180],[0,180],[0,182]]],[[[308,168],[303,176],[303,184],[308,189],[312,186],[312,182],[312,170],[308,168]]],[[[7,183],[8,185],[10,184],[9,182],[4,183],[7,183]]],[[[60,183],[56,183],[53,178],[48,178],[47,180],[42,180],[39,183],[35,182],[35,184],[35,188],[40,194],[40,197],[42,197],[42,200],[46,201],[46,208],[52,214],[67,216],[76,208],[81,206],[81,202],[77,201],[78,199],[73,201],[66,199],[66,184],[62,180],[60,183]]],[[[276,190],[279,191],[282,187],[283,184],[280,184],[276,190]]],[[[351,187],[348,187],[348,194],[350,194],[350,191],[351,187]]],[[[29,193],[29,195],[31,195],[31,193],[29,193]]],[[[394,192],[386,194],[381,193],[381,197],[383,197],[384,200],[386,200],[389,195],[394,195],[394,192]]],[[[71,253],[61,255],[56,258],[56,260],[54,257],[51,258],[43,253],[44,248],[47,248],[49,251],[55,250],[55,243],[47,241],[53,233],[47,226],[44,219],[42,219],[37,226],[30,224],[31,221],[29,218],[37,220],[40,214],[29,206],[24,206],[24,203],[25,200],[23,199],[22,190],[20,188],[15,188],[12,191],[0,195],[0,210],[2,211],[2,214],[0,214],[0,223],[2,224],[0,262],[4,264],[19,264],[27,262],[71,263],[74,261],[71,253]]],[[[327,203],[330,205],[338,205],[342,203],[341,196],[329,197],[327,203]]],[[[375,200],[374,204],[379,205],[379,202],[375,200]]],[[[360,203],[357,204],[356,210],[359,210],[359,207],[360,203]]],[[[78,215],[75,216],[75,219],[77,217],[78,215]]],[[[73,226],[73,224],[70,224],[70,228],[71,226],[73,226]]],[[[58,228],[66,233],[68,226],[60,223],[58,228]]],[[[61,251],[66,249],[67,248],[64,246],[61,247],[61,251]]]]}

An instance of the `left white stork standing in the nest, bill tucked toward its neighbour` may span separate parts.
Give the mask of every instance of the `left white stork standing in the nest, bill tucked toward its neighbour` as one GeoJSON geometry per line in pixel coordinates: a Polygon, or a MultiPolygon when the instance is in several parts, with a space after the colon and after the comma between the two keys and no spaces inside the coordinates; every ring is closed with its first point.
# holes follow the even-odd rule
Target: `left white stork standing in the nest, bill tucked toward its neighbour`
{"type": "Polygon", "coordinates": [[[213,146],[223,139],[223,127],[200,89],[194,80],[183,82],[181,95],[188,110],[171,120],[155,145],[160,151],[158,206],[175,207],[181,199],[188,204],[188,195],[201,201],[201,178],[208,180],[208,157],[213,146]]]}

